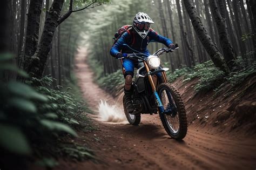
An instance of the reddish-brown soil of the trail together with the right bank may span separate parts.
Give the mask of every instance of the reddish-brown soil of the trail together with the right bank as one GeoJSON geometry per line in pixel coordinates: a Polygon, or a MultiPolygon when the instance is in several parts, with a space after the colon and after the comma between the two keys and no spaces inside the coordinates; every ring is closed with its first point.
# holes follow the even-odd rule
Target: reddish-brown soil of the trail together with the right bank
{"type": "MultiPolygon", "coordinates": [[[[114,103],[117,99],[93,83],[93,73],[85,57],[86,49],[80,49],[76,74],[86,101],[94,110],[100,99],[114,103]]],[[[95,150],[100,161],[60,161],[56,169],[255,169],[255,135],[249,137],[243,128],[237,131],[240,126],[231,125],[239,122],[235,121],[240,117],[239,113],[235,114],[236,110],[246,106],[231,108],[232,98],[220,100],[223,97],[213,98],[213,93],[195,96],[192,90],[195,82],[183,84],[179,79],[173,84],[182,94],[190,123],[183,141],[166,134],[158,115],[142,115],[139,126],[103,123],[97,115],[92,115],[98,130],[80,135],[88,139],[87,145],[95,150]]],[[[249,101],[253,97],[244,99],[249,101]]],[[[245,105],[255,105],[255,102],[245,105]]]]}

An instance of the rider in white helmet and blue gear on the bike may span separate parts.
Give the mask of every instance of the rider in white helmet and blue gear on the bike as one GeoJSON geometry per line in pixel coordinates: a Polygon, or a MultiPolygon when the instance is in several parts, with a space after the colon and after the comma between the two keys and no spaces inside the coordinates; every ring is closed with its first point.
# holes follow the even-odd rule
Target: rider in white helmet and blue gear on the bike
{"type": "Polygon", "coordinates": [[[132,104],[132,78],[134,67],[138,68],[139,62],[134,59],[127,59],[127,53],[133,53],[129,47],[124,46],[127,44],[132,49],[142,52],[146,55],[150,55],[150,52],[147,50],[147,45],[150,42],[159,42],[165,44],[170,49],[175,49],[175,45],[172,40],[159,35],[156,31],[150,28],[150,24],[154,22],[152,19],[143,12],[139,12],[133,19],[132,29],[126,31],[118,39],[118,41],[112,46],[110,54],[116,58],[123,58],[123,74],[125,78],[124,86],[124,104],[129,113],[134,112],[134,107],[132,104]],[[121,52],[122,51],[122,52],[121,52]]]}

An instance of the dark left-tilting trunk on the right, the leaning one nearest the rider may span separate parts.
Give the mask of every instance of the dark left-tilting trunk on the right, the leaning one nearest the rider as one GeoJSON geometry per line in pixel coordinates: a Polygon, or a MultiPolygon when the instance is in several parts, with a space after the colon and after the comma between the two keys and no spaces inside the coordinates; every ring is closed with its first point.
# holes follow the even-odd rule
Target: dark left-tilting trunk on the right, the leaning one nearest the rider
{"type": "Polygon", "coordinates": [[[212,42],[211,37],[208,35],[207,31],[204,28],[201,19],[197,15],[197,11],[192,5],[191,0],[183,0],[185,8],[187,10],[188,15],[190,16],[192,25],[194,30],[197,32],[198,38],[200,39],[201,43],[204,45],[206,51],[210,55],[214,65],[219,67],[220,70],[224,71],[226,74],[230,72],[227,67],[227,64],[223,60],[223,56],[215,47],[214,43],[212,42]]]}

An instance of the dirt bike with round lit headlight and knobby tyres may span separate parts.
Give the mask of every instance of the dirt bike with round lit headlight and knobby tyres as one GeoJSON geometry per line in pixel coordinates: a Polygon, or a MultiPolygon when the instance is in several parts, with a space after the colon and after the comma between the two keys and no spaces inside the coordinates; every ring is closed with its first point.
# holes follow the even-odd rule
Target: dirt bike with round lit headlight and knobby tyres
{"type": "MultiPolygon", "coordinates": [[[[123,45],[133,50],[129,45],[123,45]]],[[[176,49],[178,49],[178,45],[176,45],[176,49]]],[[[126,58],[136,59],[139,62],[136,77],[132,83],[132,103],[136,111],[132,114],[127,112],[123,99],[127,120],[132,125],[139,125],[141,114],[158,113],[165,131],[174,139],[183,139],[187,133],[185,106],[179,92],[168,83],[166,71],[169,69],[163,68],[159,58],[164,52],[173,52],[174,50],[162,48],[151,56],[136,50],[133,51],[134,53],[128,54],[126,58]],[[158,75],[155,83],[152,78],[154,75],[158,75]]]]}

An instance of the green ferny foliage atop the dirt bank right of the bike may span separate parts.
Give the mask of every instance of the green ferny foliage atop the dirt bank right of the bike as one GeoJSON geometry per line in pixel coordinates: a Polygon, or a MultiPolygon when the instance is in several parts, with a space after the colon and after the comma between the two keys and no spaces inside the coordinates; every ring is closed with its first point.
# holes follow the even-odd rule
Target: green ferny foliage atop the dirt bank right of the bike
{"type": "Polygon", "coordinates": [[[247,77],[256,73],[256,62],[248,65],[247,61],[241,57],[238,57],[235,62],[238,65],[238,67],[234,68],[236,71],[231,72],[226,77],[224,72],[215,67],[211,60],[203,64],[198,64],[192,69],[178,69],[174,71],[174,73],[168,73],[167,76],[171,82],[181,76],[184,76],[183,81],[190,81],[194,78],[198,78],[198,83],[194,86],[196,92],[213,89],[220,92],[225,85],[231,84],[232,86],[235,86],[241,84],[247,77]]]}

